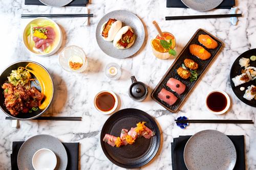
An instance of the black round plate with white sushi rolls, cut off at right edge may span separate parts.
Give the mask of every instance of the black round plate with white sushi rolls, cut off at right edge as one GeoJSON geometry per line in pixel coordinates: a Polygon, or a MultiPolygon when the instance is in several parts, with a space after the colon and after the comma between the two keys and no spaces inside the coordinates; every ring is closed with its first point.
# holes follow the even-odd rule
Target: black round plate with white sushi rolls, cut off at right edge
{"type": "MultiPolygon", "coordinates": [[[[256,100],[252,99],[250,101],[246,100],[245,98],[243,98],[245,90],[247,89],[248,86],[254,85],[256,86],[256,81],[249,81],[247,83],[241,84],[237,87],[234,86],[234,83],[232,81],[232,78],[241,75],[242,74],[242,69],[245,69],[245,67],[241,67],[241,65],[239,64],[239,60],[241,58],[250,58],[251,56],[256,56],[256,48],[248,50],[246,52],[244,52],[243,54],[241,54],[233,63],[231,69],[230,69],[230,75],[229,75],[229,79],[230,79],[230,85],[231,88],[234,92],[234,94],[236,94],[236,96],[238,97],[238,99],[240,99],[242,102],[244,102],[245,104],[252,106],[252,107],[256,107],[256,100]],[[242,91],[240,90],[240,87],[244,87],[245,89],[242,91]]],[[[256,60],[255,61],[251,61],[249,62],[249,66],[253,66],[256,67],[256,60]]]]}

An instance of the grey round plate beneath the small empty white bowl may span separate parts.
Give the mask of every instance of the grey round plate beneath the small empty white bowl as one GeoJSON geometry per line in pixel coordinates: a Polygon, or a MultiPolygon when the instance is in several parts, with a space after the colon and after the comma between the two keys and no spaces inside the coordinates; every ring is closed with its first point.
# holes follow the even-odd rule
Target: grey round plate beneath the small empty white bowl
{"type": "Polygon", "coordinates": [[[68,164],[68,155],[63,144],[50,135],[36,135],[26,140],[18,151],[17,164],[19,169],[34,169],[32,157],[39,149],[46,148],[54,152],[57,157],[55,169],[65,170],[68,164]]]}

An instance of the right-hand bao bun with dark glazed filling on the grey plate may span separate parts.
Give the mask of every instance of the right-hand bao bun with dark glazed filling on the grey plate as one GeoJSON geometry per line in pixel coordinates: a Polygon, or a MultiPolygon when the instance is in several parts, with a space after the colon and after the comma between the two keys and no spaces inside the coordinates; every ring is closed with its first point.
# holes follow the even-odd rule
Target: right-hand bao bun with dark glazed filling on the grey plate
{"type": "MultiPolygon", "coordinates": [[[[115,36],[115,38],[114,38],[114,41],[113,41],[113,45],[116,47],[116,48],[118,48],[118,49],[127,49],[127,48],[130,48],[133,44],[134,44],[134,39],[135,39],[135,35],[133,34],[130,38],[129,38],[129,40],[128,41],[124,41],[126,44],[127,44],[127,46],[123,46],[123,45],[121,45],[120,43],[119,43],[119,40],[121,40],[122,41],[122,36],[124,35],[124,34],[126,34],[128,31],[131,31],[132,32],[132,34],[133,34],[133,30],[132,30],[132,28],[130,27],[130,26],[125,26],[125,27],[123,27],[123,28],[121,28],[119,31],[118,31],[118,33],[116,34],[116,36],[115,36]]],[[[131,33],[130,32],[130,33],[131,33]]]]}

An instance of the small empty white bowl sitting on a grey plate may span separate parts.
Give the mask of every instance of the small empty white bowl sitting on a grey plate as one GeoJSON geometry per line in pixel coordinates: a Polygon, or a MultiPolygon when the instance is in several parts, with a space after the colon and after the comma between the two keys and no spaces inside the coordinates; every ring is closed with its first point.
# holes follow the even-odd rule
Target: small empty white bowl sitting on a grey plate
{"type": "Polygon", "coordinates": [[[57,165],[57,157],[49,149],[39,149],[33,155],[32,165],[35,170],[53,170],[57,165]]]}

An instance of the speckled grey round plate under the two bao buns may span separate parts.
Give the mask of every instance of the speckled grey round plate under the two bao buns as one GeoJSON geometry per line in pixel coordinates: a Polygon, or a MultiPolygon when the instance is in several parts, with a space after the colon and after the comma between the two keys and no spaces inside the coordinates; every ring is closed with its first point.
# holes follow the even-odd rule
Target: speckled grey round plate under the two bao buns
{"type": "Polygon", "coordinates": [[[100,19],[96,28],[96,40],[100,49],[106,55],[109,55],[114,58],[127,58],[127,57],[133,56],[135,53],[137,53],[140,50],[141,46],[144,43],[144,39],[145,39],[145,30],[140,18],[134,13],[125,11],[125,10],[112,11],[104,15],[100,19]],[[110,18],[121,20],[122,27],[131,26],[135,34],[135,42],[130,48],[119,50],[116,47],[114,47],[113,41],[109,42],[109,41],[103,40],[100,33],[100,29],[103,23],[108,21],[110,18]]]}

